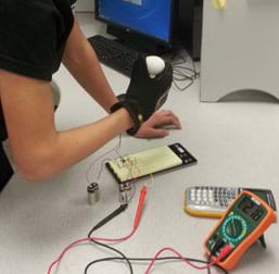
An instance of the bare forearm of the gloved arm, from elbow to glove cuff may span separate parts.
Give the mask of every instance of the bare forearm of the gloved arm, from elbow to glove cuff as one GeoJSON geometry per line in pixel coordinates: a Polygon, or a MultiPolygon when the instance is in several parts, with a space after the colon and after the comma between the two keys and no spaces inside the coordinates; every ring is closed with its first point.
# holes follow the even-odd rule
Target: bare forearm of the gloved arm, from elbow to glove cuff
{"type": "Polygon", "coordinates": [[[132,122],[125,109],[87,126],[55,134],[45,141],[48,148],[38,149],[37,163],[28,166],[27,178],[40,180],[65,170],[66,167],[87,158],[109,140],[132,126],[132,122]],[[119,122],[121,121],[121,122],[119,122]],[[42,151],[48,151],[43,154],[42,151]],[[28,177],[28,174],[31,176],[28,177]]]}

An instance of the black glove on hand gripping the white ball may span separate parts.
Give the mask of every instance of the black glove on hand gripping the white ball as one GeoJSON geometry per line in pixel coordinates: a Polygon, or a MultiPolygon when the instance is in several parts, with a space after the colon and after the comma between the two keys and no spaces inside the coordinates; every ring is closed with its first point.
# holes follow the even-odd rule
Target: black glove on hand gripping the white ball
{"type": "Polygon", "coordinates": [[[134,120],[135,126],[128,134],[135,135],[143,121],[147,121],[166,101],[173,83],[173,67],[165,63],[164,70],[151,77],[144,55],[139,54],[135,62],[130,84],[124,99],[111,108],[114,112],[126,108],[134,120]]]}

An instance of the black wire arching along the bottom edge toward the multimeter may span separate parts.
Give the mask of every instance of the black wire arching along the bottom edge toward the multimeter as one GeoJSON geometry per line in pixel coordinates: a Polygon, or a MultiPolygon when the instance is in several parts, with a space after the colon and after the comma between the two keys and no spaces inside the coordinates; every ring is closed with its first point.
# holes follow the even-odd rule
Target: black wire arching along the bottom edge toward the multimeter
{"type": "MultiPolygon", "coordinates": [[[[126,259],[128,261],[151,261],[153,260],[153,258],[127,258],[126,259]]],[[[87,264],[86,269],[85,269],[85,274],[88,274],[88,270],[96,263],[99,262],[107,262],[107,261],[123,261],[123,258],[119,257],[107,257],[107,258],[101,258],[94,261],[91,261],[90,263],[87,264]]],[[[167,260],[181,260],[181,258],[179,257],[161,257],[161,258],[156,258],[156,261],[167,261],[167,260]]],[[[198,263],[204,263],[207,264],[208,262],[203,261],[203,260],[199,260],[199,259],[192,259],[192,258],[187,258],[187,260],[191,261],[191,262],[198,262],[198,263]]],[[[224,274],[228,274],[228,272],[226,270],[224,270],[221,266],[215,264],[214,266],[218,267],[220,271],[224,272],[224,274]]],[[[208,267],[207,270],[210,270],[211,267],[208,267]]],[[[211,272],[210,272],[211,273],[211,272]]]]}

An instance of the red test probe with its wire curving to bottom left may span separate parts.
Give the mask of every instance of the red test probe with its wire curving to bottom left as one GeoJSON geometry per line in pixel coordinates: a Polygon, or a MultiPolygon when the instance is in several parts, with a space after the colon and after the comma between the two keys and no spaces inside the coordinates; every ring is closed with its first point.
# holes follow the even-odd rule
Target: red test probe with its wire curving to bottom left
{"type": "Polygon", "coordinates": [[[142,212],[142,208],[143,208],[143,203],[144,203],[144,200],[145,200],[145,195],[147,195],[147,187],[143,186],[141,188],[141,191],[140,191],[140,197],[139,197],[139,203],[138,203],[138,209],[137,209],[137,213],[136,213],[136,216],[135,216],[135,220],[134,220],[134,226],[132,226],[132,231],[129,235],[125,236],[125,237],[122,237],[122,238],[114,238],[114,239],[109,239],[109,238],[100,238],[100,237],[92,237],[92,238],[83,238],[83,239],[78,239],[76,241],[73,241],[72,244],[69,244],[66,248],[64,248],[64,250],[61,252],[61,254],[59,256],[59,258],[53,261],[49,269],[48,269],[48,274],[51,274],[51,270],[52,267],[59,263],[64,254],[69,250],[72,249],[73,247],[75,247],[76,245],[79,245],[81,242],[85,242],[85,241],[90,241],[90,240],[97,240],[97,241],[124,241],[124,240],[127,240],[129,239],[137,231],[138,228],[138,225],[139,225],[139,221],[140,221],[140,216],[141,216],[141,212],[142,212]]]}

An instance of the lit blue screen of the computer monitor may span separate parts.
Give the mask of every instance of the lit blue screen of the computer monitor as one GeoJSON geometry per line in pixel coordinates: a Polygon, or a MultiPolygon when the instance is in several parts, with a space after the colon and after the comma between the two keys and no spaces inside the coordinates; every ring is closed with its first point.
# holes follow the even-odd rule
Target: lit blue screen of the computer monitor
{"type": "Polygon", "coordinates": [[[173,0],[98,0],[97,17],[163,42],[172,39],[173,0]]]}

